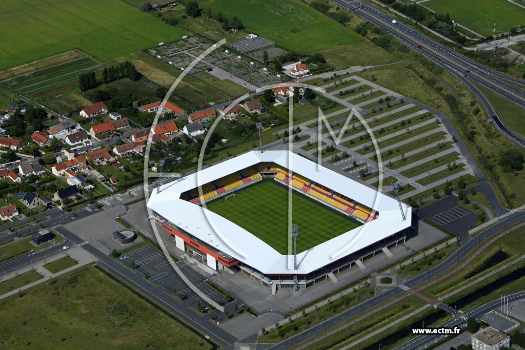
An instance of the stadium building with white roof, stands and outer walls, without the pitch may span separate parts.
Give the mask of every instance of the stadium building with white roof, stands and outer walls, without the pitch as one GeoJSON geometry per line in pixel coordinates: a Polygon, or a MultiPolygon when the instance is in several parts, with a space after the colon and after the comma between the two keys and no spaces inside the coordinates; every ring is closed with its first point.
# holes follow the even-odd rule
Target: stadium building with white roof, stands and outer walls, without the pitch
{"type": "MultiPolygon", "coordinates": [[[[289,151],[248,152],[152,193],[148,207],[155,224],[174,237],[176,247],[214,270],[247,275],[275,293],[307,288],[405,241],[412,210],[394,198],[289,151]],[[337,237],[293,255],[281,254],[234,222],[205,208],[206,201],[231,196],[270,178],[361,222],[337,237]],[[200,190],[199,190],[200,189],[200,190]],[[401,213],[403,210],[405,219],[401,213]]],[[[261,229],[263,229],[261,227],[261,229]]],[[[329,228],[328,228],[329,229],[329,228]]],[[[289,234],[289,232],[283,232],[289,234]]],[[[300,235],[299,235],[300,236],[300,235]]]]}

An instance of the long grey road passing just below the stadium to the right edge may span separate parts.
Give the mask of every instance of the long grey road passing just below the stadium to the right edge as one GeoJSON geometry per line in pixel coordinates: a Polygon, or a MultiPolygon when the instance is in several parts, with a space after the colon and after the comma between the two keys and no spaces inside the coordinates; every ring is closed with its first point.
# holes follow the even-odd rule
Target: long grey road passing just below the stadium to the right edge
{"type": "MultiPolygon", "coordinates": [[[[403,284],[411,289],[416,289],[416,287],[418,287],[420,284],[423,284],[424,282],[427,282],[429,279],[433,279],[438,275],[447,272],[451,268],[454,268],[461,259],[463,259],[468,253],[477,248],[480,245],[480,243],[488,239],[490,236],[494,235],[496,232],[505,229],[509,225],[515,224],[516,222],[520,222],[523,220],[525,220],[525,213],[521,213],[520,211],[507,216],[505,219],[500,220],[496,225],[493,225],[490,228],[480,232],[480,234],[469,240],[465,245],[460,247],[456,251],[456,253],[448,257],[438,266],[434,267],[433,269],[430,269],[427,273],[420,274],[414,277],[412,280],[409,280],[403,284]]],[[[304,332],[298,333],[288,338],[286,341],[282,341],[270,348],[272,350],[286,350],[292,345],[297,345],[299,343],[309,340],[310,338],[313,338],[307,344],[299,347],[308,348],[309,345],[312,345],[317,341],[317,339],[314,337],[321,336],[322,333],[326,332],[331,327],[341,325],[342,323],[351,319],[352,317],[359,316],[363,312],[374,309],[376,306],[387,300],[392,299],[393,301],[395,301],[397,295],[402,293],[402,290],[399,288],[393,288],[391,290],[388,290],[387,292],[384,292],[378,296],[375,296],[372,299],[365,301],[363,304],[354,306],[351,309],[346,310],[325,322],[319,323],[316,326],[313,326],[312,328],[309,328],[304,332]]],[[[336,333],[336,331],[329,331],[328,336],[333,333],[336,333]]]]}

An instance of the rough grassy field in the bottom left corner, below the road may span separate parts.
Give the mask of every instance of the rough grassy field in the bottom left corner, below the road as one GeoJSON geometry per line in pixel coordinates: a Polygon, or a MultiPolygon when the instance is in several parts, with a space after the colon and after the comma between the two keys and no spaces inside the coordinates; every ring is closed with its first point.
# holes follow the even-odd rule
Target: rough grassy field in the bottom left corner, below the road
{"type": "Polygon", "coordinates": [[[0,305],[1,319],[9,320],[2,324],[2,341],[9,348],[212,348],[203,336],[90,266],[3,299],[0,305]]]}

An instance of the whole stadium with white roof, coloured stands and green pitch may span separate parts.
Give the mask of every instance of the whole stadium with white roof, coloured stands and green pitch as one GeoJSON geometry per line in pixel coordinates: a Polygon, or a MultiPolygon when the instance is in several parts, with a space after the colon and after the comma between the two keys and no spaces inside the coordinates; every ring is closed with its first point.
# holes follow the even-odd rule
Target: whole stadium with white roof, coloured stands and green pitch
{"type": "Polygon", "coordinates": [[[248,152],[179,178],[148,207],[178,249],[272,294],[391,256],[412,221],[406,204],[290,151],[248,152]]]}

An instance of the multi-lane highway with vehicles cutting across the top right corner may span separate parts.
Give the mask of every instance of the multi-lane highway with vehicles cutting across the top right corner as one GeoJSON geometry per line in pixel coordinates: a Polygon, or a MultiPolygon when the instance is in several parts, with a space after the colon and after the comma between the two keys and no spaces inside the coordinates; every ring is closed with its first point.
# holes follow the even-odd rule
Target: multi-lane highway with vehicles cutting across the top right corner
{"type": "MultiPolygon", "coordinates": [[[[346,7],[346,2],[343,0],[332,1],[341,5],[343,8],[346,7]]],[[[498,126],[498,129],[509,137],[509,139],[525,146],[525,139],[515,135],[506,128],[490,105],[490,102],[474,85],[474,83],[479,84],[480,86],[498,94],[502,98],[525,108],[525,91],[514,85],[518,84],[520,86],[525,86],[525,81],[487,68],[480,63],[466,58],[463,55],[458,54],[456,51],[424,36],[418,30],[400,22],[393,24],[392,20],[395,18],[370,5],[362,3],[362,8],[355,9],[354,13],[385,30],[388,34],[402,41],[405,45],[421,52],[423,56],[432,60],[437,65],[446,69],[451,75],[458,78],[472,91],[472,93],[476,95],[488,115],[491,116],[498,126]],[[421,49],[418,47],[421,47],[421,49]],[[511,81],[513,84],[508,81],[511,81]]]]}

